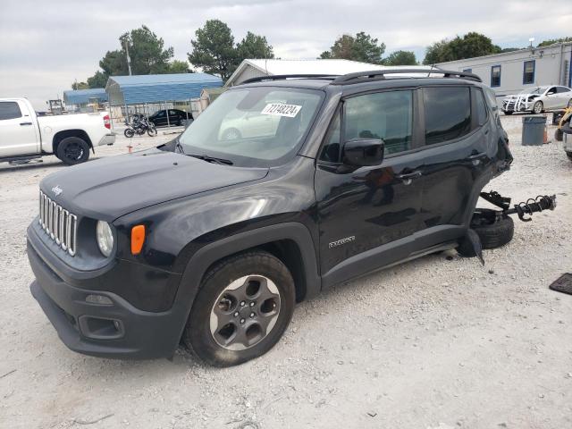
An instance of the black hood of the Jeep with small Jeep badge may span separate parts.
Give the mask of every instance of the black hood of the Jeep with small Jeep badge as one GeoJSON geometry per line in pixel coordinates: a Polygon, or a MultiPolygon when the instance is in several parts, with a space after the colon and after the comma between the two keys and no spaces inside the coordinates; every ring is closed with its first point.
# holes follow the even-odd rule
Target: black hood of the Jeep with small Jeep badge
{"type": "Polygon", "coordinates": [[[139,208],[257,181],[267,173],[267,168],[211,164],[152,149],[65,168],[47,176],[40,188],[71,213],[112,222],[139,208]]]}

